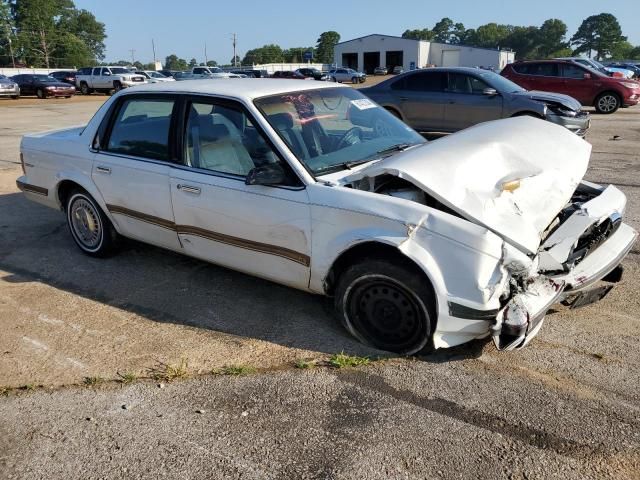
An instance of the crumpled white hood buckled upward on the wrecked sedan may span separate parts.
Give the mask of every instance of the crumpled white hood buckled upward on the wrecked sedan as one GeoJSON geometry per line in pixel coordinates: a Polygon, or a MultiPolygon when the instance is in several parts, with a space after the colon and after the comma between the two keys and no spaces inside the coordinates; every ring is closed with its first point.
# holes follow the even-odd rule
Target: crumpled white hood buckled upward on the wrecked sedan
{"type": "Polygon", "coordinates": [[[359,170],[342,181],[391,174],[464,218],[535,253],[543,232],[582,180],[591,145],[530,117],[487,122],[359,170]],[[520,180],[519,188],[503,184],[520,180]]]}

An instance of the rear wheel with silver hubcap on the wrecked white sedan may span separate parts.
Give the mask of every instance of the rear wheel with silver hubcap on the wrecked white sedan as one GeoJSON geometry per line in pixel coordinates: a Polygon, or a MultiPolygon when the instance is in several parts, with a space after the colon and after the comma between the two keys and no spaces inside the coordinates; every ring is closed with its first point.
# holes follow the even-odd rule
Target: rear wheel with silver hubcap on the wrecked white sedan
{"type": "Polygon", "coordinates": [[[91,195],[74,190],[65,208],[71,237],[83,253],[106,257],[114,250],[118,233],[91,195]]]}

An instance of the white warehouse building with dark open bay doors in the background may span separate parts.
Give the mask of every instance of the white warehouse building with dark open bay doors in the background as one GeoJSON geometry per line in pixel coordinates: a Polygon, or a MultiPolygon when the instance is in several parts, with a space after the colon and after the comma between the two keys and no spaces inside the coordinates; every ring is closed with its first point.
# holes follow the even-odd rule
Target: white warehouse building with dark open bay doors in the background
{"type": "Polygon", "coordinates": [[[427,42],[372,34],[338,43],[333,51],[337,66],[372,74],[376,67],[400,66],[414,70],[426,66],[484,67],[502,70],[513,63],[515,52],[427,42]]]}

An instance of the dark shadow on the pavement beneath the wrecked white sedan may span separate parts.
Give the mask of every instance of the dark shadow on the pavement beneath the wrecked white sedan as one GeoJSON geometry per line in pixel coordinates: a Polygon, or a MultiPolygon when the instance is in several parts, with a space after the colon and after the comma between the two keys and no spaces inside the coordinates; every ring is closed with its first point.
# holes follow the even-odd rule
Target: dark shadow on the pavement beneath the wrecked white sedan
{"type": "MultiPolygon", "coordinates": [[[[331,299],[311,295],[135,241],[110,258],[82,254],[60,212],[0,195],[3,281],[41,282],[155,322],[189,325],[332,354],[388,355],[361,345],[333,316],[331,299]]],[[[419,357],[479,356],[483,342],[419,357]]]]}

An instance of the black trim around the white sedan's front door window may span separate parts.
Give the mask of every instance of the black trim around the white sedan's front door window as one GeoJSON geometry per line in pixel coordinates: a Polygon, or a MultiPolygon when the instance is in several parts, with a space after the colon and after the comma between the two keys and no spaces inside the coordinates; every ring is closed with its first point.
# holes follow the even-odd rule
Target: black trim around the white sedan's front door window
{"type": "Polygon", "coordinates": [[[271,151],[276,155],[278,160],[283,165],[286,166],[286,168],[289,170],[290,174],[292,175],[292,178],[294,178],[298,183],[298,185],[271,185],[272,188],[284,188],[288,190],[303,190],[305,188],[304,182],[300,179],[295,169],[291,167],[291,165],[289,165],[289,162],[282,155],[280,150],[278,150],[278,148],[275,146],[271,138],[267,135],[264,129],[260,126],[260,124],[256,121],[253,114],[241,102],[238,102],[236,100],[232,100],[229,98],[216,97],[216,96],[210,96],[210,95],[187,94],[187,95],[181,95],[181,97],[182,97],[180,102],[181,108],[178,113],[179,118],[177,119],[177,123],[176,123],[177,128],[175,129],[176,135],[178,135],[178,138],[176,139],[176,146],[178,150],[177,150],[177,159],[176,159],[176,165],[175,165],[177,168],[180,168],[181,170],[198,172],[198,173],[210,175],[213,177],[222,177],[222,178],[229,178],[232,180],[238,180],[243,183],[245,181],[246,177],[241,175],[234,175],[231,173],[219,172],[215,170],[208,170],[208,169],[192,167],[187,165],[184,147],[186,145],[187,123],[188,123],[187,120],[189,115],[189,107],[193,103],[206,103],[212,106],[218,105],[220,107],[231,108],[231,109],[235,109],[242,112],[246,116],[247,120],[251,122],[253,128],[256,129],[256,132],[264,139],[264,141],[269,146],[271,151]]]}

